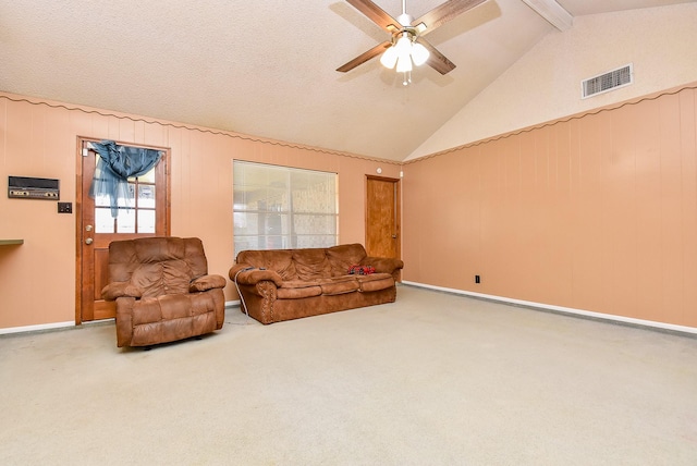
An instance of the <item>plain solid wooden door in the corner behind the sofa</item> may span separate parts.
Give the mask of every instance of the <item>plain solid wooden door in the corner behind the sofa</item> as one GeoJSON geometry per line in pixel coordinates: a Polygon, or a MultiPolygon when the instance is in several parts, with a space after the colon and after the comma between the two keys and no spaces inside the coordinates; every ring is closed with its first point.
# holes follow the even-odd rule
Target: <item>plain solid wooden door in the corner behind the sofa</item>
{"type": "Polygon", "coordinates": [[[401,257],[400,180],[368,176],[366,184],[366,252],[401,257]]]}

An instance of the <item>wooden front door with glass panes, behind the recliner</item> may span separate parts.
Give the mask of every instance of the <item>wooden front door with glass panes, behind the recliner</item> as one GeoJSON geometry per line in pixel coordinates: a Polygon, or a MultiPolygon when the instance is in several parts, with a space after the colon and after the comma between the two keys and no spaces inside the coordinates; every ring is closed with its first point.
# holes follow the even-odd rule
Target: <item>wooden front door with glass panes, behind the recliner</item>
{"type": "MultiPolygon", "coordinates": [[[[109,282],[109,244],[114,240],[169,235],[169,150],[158,164],[143,176],[129,180],[134,203],[126,208],[120,203],[118,217],[111,216],[109,199],[89,196],[95,174],[97,152],[90,143],[80,138],[77,214],[77,306],[75,323],[109,319],[115,316],[115,303],[101,298],[101,290],[109,282]]],[[[121,144],[121,143],[119,143],[121,144]]],[[[134,146],[134,145],[131,145],[134,146]]],[[[145,147],[145,146],[138,146],[145,147]]]]}

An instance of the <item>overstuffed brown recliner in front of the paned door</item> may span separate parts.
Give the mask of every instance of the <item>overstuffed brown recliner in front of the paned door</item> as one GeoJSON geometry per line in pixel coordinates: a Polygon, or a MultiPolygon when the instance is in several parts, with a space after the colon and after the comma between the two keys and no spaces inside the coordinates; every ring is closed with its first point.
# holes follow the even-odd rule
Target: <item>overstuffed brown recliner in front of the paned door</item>
{"type": "Polygon", "coordinates": [[[221,275],[208,274],[196,237],[145,237],[109,245],[109,284],[117,302],[117,345],[150,346],[222,328],[221,275]]]}

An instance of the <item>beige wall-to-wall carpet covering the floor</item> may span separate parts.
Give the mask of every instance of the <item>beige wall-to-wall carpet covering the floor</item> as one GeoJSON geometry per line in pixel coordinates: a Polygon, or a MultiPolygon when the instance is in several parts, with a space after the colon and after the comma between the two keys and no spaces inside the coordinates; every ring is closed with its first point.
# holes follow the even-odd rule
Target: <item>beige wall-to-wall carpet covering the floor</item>
{"type": "Polygon", "coordinates": [[[697,339],[400,286],[119,350],[0,338],[2,465],[696,465],[697,339]]]}

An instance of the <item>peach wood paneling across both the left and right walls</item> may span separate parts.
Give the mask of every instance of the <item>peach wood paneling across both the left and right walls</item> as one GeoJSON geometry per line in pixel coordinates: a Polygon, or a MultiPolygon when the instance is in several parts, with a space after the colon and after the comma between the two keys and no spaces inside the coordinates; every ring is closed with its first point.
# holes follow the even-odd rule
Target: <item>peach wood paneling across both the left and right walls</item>
{"type": "MultiPolygon", "coordinates": [[[[172,234],[201,237],[225,274],[233,159],[339,173],[344,243],[364,242],[366,174],[403,170],[405,281],[697,327],[696,94],[400,165],[0,93],[0,188],[8,175],[57,177],[74,201],[78,135],[170,147],[172,234]]],[[[0,237],[25,240],[0,247],[0,329],[73,320],[75,216],[0,196],[0,237]]]]}

